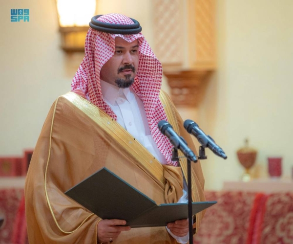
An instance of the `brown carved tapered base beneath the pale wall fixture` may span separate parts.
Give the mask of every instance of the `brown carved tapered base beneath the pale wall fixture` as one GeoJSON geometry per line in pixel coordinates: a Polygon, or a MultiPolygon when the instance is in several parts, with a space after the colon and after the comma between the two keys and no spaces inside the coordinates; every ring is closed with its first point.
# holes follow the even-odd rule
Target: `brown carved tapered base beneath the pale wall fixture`
{"type": "Polygon", "coordinates": [[[211,72],[211,70],[164,72],[175,106],[196,107],[199,103],[202,83],[209,78],[211,72]]]}

